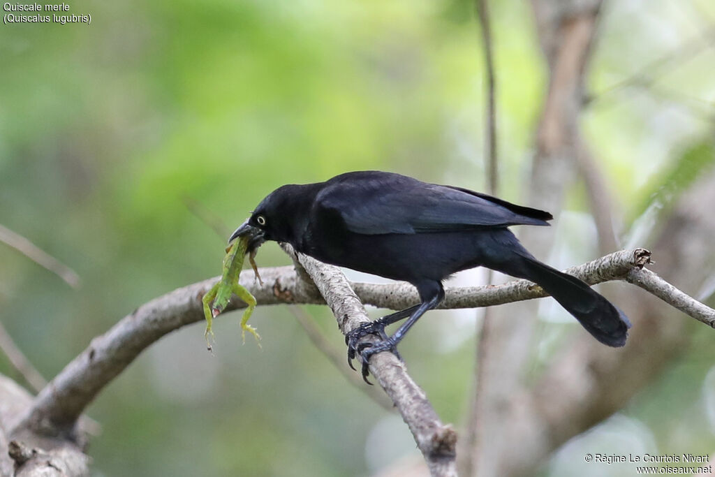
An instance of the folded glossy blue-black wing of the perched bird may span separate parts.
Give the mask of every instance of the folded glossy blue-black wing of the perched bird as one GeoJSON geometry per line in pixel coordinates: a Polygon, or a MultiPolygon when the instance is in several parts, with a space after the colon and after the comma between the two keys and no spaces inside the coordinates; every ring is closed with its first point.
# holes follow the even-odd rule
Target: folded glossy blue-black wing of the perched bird
{"type": "Polygon", "coordinates": [[[508,225],[548,225],[551,214],[470,190],[398,174],[356,176],[327,185],[318,212],[339,214],[351,232],[413,234],[508,225]]]}

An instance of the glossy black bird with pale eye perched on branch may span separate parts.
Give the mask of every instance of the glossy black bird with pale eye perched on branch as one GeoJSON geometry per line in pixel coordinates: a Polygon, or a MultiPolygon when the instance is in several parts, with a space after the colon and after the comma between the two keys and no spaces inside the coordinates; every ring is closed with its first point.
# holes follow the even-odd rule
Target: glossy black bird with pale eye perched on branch
{"type": "Polygon", "coordinates": [[[552,218],[460,187],[390,172],[347,172],[326,182],[279,187],[230,240],[250,233],[254,250],[263,240],[288,242],[322,262],[417,288],[419,305],[366,323],[345,338],[348,363],[359,353],[366,378],[370,356],[397,353],[410,327],[444,299],[442,280],[478,266],[536,282],[596,340],[623,346],[631,326],[626,315],[578,278],[536,260],[507,228],[549,225],[552,218]],[[403,318],[408,320],[388,337],[385,326],[403,318]],[[382,341],[358,346],[368,333],[382,341]]]}

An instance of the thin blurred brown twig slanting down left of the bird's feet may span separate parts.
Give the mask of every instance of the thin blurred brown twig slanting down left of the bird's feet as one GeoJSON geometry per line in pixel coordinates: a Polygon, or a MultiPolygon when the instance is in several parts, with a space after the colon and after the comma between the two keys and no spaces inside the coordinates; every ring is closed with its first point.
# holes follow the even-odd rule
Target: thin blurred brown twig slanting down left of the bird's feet
{"type": "Polygon", "coordinates": [[[393,406],[393,403],[388,400],[385,393],[382,393],[374,386],[366,386],[358,373],[353,372],[350,368],[345,366],[345,351],[339,350],[325,338],[320,331],[320,328],[313,323],[312,318],[305,313],[305,310],[298,305],[290,306],[288,307],[288,310],[293,316],[295,316],[295,320],[297,320],[298,324],[302,326],[303,330],[305,330],[305,334],[308,335],[308,338],[310,338],[312,344],[315,345],[315,348],[317,348],[320,353],[325,355],[325,358],[327,358],[327,360],[330,361],[330,363],[332,363],[338,371],[340,371],[340,374],[342,374],[350,384],[365,393],[368,398],[374,400],[375,403],[380,405],[380,407],[388,410],[389,412],[394,412],[395,406],[393,406]]]}

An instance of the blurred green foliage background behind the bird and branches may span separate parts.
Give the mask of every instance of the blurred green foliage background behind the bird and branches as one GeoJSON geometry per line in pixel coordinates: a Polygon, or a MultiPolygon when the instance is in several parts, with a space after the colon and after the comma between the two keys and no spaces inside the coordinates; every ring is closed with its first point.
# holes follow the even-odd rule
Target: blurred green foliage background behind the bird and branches
{"type": "MultiPolygon", "coordinates": [[[[518,201],[545,67],[531,10],[492,3],[501,195],[518,201]]],[[[685,169],[674,192],[686,187],[712,132],[691,102],[658,89],[711,102],[712,51],[686,62],[686,76],[659,72],[657,88],[610,89],[689,39],[692,21],[715,21],[711,3],[683,4],[679,20],[665,0],[613,2],[603,14],[589,74],[596,99],[583,123],[631,216],[677,164],[685,169]]],[[[0,245],[0,319],[46,376],[137,305],[217,275],[225,237],[182,197],[231,229],[279,185],[353,169],[483,189],[484,72],[470,1],[70,5],[92,24],[0,26],[0,223],[83,279],[71,290],[0,245]]],[[[585,210],[580,191],[570,207],[585,210]]],[[[287,263],[273,245],[258,260],[287,263]]],[[[309,309],[340,348],[329,311],[309,309]]],[[[393,461],[416,453],[406,428],[380,431],[387,413],[347,384],[285,308],[255,312],[262,350],[240,345],[237,320],[218,321],[215,356],[203,325],[180,330],[99,396],[89,410],[104,426],[90,448],[99,475],[364,475],[385,464],[368,441],[407,449],[393,461]]],[[[424,320],[402,348],[440,415],[457,424],[474,353],[474,327],[459,323],[424,320]]],[[[702,412],[694,393],[711,358],[694,357],[627,411],[661,450],[696,449],[669,441],[676,423],[659,415],[666,401],[702,412]]],[[[690,443],[704,436],[711,445],[701,423],[690,443]]]]}

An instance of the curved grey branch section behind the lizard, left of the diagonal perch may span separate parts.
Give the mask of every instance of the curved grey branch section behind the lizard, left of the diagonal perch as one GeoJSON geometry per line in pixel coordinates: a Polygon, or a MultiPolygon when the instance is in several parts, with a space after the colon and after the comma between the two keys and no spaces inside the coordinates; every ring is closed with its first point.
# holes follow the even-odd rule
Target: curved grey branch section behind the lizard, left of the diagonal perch
{"type": "MultiPolygon", "coordinates": [[[[255,284],[252,273],[242,273],[240,277],[259,303],[292,303],[295,297],[302,303],[322,301],[307,291],[292,267],[264,269],[261,275],[265,280],[262,286],[255,284]]],[[[94,338],[87,350],[66,365],[40,391],[28,412],[10,427],[49,435],[71,433],[82,410],[144,348],[173,330],[204,320],[201,297],[217,280],[204,280],[155,298],[94,338]]],[[[228,308],[237,308],[237,303],[228,308]]]]}

